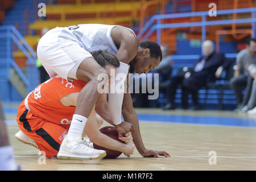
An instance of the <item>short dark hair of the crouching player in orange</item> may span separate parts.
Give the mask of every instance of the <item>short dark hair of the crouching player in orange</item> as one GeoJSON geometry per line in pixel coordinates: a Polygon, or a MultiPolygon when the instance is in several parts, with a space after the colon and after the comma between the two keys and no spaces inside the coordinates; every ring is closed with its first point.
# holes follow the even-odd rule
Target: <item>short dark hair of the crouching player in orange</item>
{"type": "Polygon", "coordinates": [[[120,62],[111,53],[105,50],[98,50],[90,52],[90,54],[94,57],[94,59],[97,61],[98,64],[101,65],[101,67],[105,68],[106,64],[111,64],[114,67],[118,68],[120,66],[120,62]]]}

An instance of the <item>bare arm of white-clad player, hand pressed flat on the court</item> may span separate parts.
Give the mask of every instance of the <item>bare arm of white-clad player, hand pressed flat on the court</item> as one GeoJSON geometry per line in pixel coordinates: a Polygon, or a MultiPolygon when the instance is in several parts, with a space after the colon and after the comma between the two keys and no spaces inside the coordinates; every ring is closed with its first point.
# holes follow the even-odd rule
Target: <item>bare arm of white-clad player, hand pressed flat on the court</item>
{"type": "Polygon", "coordinates": [[[122,115],[125,121],[130,122],[133,126],[133,142],[139,154],[144,157],[159,157],[159,155],[170,157],[170,155],[165,151],[147,150],[145,148],[141,137],[141,131],[139,129],[139,120],[137,117],[137,113],[133,107],[133,101],[131,100],[131,96],[128,91],[129,88],[127,86],[127,92],[123,96],[122,115]]]}

